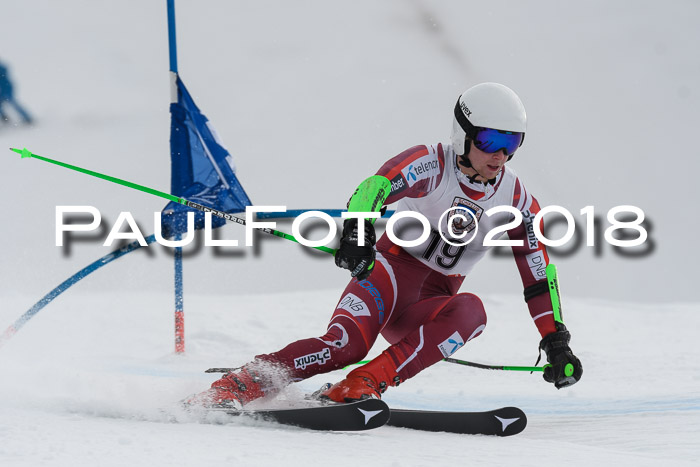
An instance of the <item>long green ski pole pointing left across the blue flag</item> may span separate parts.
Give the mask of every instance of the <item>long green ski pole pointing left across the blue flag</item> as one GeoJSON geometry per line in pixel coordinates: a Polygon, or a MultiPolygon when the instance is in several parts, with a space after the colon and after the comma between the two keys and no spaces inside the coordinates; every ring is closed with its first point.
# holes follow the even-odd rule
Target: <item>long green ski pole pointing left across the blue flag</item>
{"type": "MultiPolygon", "coordinates": [[[[240,225],[246,225],[246,221],[244,219],[241,219],[240,217],[234,216],[233,214],[219,211],[218,209],[210,208],[208,206],[204,206],[202,204],[186,200],[185,198],[180,198],[178,196],[171,195],[170,193],[165,193],[163,191],[159,191],[159,190],[156,190],[153,188],[149,188],[147,186],[139,185],[137,183],[128,182],[126,180],[112,177],[110,175],[105,175],[105,174],[101,174],[99,172],[94,172],[92,170],[83,169],[82,167],[78,167],[75,165],[66,164],[65,162],[49,159],[48,157],[42,157],[42,156],[39,156],[37,154],[33,154],[27,148],[24,148],[24,149],[10,148],[10,150],[12,150],[12,151],[16,152],[17,154],[19,154],[20,156],[22,156],[22,159],[30,158],[30,157],[33,159],[39,159],[41,161],[49,162],[51,164],[55,164],[55,165],[58,165],[60,167],[64,167],[66,169],[75,170],[76,172],[80,172],[80,173],[84,173],[86,175],[91,175],[93,177],[101,178],[102,180],[107,180],[109,182],[116,183],[118,185],[123,185],[123,186],[129,187],[129,188],[133,188],[135,190],[143,191],[144,193],[158,196],[160,198],[165,198],[168,201],[174,201],[174,202],[179,203],[179,204],[184,204],[185,206],[187,206],[189,208],[197,209],[198,211],[211,212],[215,216],[221,217],[221,218],[226,219],[228,221],[235,222],[235,223],[240,224],[240,225]]],[[[261,231],[268,233],[270,235],[285,238],[287,240],[291,240],[293,242],[299,243],[299,241],[296,238],[294,238],[292,235],[289,235],[289,234],[284,233],[284,232],[280,232],[279,230],[269,229],[269,228],[259,228],[257,230],[261,230],[261,231]]],[[[329,253],[331,255],[335,255],[335,250],[333,248],[328,248],[325,246],[315,246],[315,247],[311,247],[311,248],[315,248],[319,251],[323,251],[323,252],[329,253]]]]}

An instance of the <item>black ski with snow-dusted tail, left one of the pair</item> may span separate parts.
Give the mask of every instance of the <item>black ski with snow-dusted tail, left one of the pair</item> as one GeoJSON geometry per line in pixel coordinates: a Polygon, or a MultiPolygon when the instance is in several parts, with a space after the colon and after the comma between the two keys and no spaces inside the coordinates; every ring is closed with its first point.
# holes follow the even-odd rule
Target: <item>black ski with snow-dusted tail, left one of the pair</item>
{"type": "Polygon", "coordinates": [[[367,399],[347,404],[324,404],[290,409],[213,409],[229,415],[252,417],[310,430],[360,431],[378,428],[389,420],[385,402],[367,399]]]}

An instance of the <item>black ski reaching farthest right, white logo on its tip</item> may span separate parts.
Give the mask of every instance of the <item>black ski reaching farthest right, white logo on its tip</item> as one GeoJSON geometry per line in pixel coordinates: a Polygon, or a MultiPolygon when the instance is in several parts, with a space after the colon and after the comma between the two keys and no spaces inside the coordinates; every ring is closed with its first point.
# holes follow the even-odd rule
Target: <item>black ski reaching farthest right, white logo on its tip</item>
{"type": "Polygon", "coordinates": [[[423,431],[511,436],[525,429],[527,417],[517,407],[503,407],[487,412],[391,409],[387,425],[423,431]]]}

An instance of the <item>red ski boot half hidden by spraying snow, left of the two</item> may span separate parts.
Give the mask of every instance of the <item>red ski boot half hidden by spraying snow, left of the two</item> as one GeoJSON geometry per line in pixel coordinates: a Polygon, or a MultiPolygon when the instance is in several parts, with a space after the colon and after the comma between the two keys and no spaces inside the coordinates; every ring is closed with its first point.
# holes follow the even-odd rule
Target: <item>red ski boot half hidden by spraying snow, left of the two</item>
{"type": "Polygon", "coordinates": [[[266,395],[261,382],[257,371],[244,366],[235,372],[226,373],[220,380],[214,381],[210,389],[187,399],[185,405],[240,409],[266,395]]]}

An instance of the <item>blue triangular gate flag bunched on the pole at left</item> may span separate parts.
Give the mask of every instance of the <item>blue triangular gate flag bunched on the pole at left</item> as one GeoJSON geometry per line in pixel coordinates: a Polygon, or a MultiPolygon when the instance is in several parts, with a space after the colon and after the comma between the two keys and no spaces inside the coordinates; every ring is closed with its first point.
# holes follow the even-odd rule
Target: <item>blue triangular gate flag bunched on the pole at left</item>
{"type": "MultiPolygon", "coordinates": [[[[209,120],[199,111],[180,76],[175,74],[177,102],[170,104],[171,193],[227,213],[252,205],[235,174],[233,158],[209,120]]],[[[164,238],[187,231],[187,212],[195,213],[195,229],[204,228],[204,213],[170,202],[162,212],[164,238]]],[[[212,227],[226,221],[212,216],[212,227]]]]}

